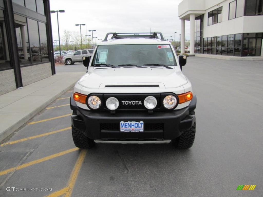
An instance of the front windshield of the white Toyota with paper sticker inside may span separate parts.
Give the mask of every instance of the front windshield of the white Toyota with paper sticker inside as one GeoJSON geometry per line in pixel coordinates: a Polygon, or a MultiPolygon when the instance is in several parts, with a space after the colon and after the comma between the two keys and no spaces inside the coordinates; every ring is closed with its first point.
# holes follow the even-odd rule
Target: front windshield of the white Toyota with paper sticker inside
{"type": "Polygon", "coordinates": [[[170,45],[99,45],[93,64],[111,64],[114,66],[164,64],[176,66],[176,61],[170,45]]]}

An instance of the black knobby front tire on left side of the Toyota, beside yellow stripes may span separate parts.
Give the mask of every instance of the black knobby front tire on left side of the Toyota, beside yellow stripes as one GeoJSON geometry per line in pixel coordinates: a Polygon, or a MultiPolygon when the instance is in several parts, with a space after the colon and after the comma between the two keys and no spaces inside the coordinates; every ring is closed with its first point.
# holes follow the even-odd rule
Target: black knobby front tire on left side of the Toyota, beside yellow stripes
{"type": "Polygon", "coordinates": [[[90,139],[87,136],[85,136],[82,133],[82,131],[78,130],[73,125],[71,125],[71,128],[72,128],[72,138],[76,147],[86,149],[95,146],[95,142],[93,139],[90,139]]]}

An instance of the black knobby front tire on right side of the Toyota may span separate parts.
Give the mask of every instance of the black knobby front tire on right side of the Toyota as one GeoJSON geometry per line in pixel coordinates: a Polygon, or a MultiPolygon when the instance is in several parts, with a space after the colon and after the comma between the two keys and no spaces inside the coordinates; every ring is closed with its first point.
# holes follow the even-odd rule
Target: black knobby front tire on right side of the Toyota
{"type": "MultiPolygon", "coordinates": [[[[195,115],[195,111],[190,111],[189,115],[195,115]]],[[[173,140],[176,148],[186,149],[193,146],[195,140],[195,122],[193,126],[184,131],[178,138],[173,140]]]]}

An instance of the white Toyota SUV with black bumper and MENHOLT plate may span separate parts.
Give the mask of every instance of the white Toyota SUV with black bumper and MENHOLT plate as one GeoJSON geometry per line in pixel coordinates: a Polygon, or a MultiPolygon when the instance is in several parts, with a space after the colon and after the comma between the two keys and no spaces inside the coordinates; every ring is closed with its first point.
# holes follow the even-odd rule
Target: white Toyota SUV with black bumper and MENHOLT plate
{"type": "Polygon", "coordinates": [[[87,74],[70,98],[77,147],[95,142],[193,145],[196,96],[181,72],[186,56],[178,61],[160,32],[107,33],[83,64],[87,74]]]}

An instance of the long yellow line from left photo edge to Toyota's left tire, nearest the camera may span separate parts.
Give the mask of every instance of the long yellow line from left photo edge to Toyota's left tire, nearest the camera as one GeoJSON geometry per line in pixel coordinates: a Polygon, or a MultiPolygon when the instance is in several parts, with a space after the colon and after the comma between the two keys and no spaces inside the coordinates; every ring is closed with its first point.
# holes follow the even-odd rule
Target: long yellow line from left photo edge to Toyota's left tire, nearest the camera
{"type": "Polygon", "coordinates": [[[44,162],[44,161],[47,161],[49,159],[53,159],[55,157],[59,157],[59,156],[62,156],[64,154],[67,154],[67,153],[71,153],[73,151],[77,151],[79,148],[72,148],[72,149],[68,149],[67,151],[62,151],[62,152],[59,152],[59,153],[55,153],[53,155],[49,155],[47,157],[43,157],[41,159],[37,159],[37,160],[34,160],[32,162],[28,162],[28,163],[25,163],[25,164],[22,164],[22,165],[19,165],[17,167],[14,167],[14,168],[9,168],[7,170],[3,170],[3,171],[0,171],[0,176],[4,175],[4,174],[8,174],[10,172],[13,172],[15,170],[20,170],[22,168],[26,168],[28,166],[31,166],[31,165],[34,165],[34,164],[38,164],[38,163],[41,163],[41,162],[44,162]]]}

